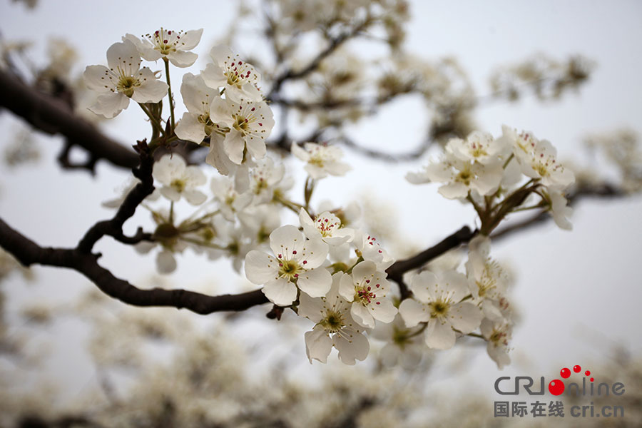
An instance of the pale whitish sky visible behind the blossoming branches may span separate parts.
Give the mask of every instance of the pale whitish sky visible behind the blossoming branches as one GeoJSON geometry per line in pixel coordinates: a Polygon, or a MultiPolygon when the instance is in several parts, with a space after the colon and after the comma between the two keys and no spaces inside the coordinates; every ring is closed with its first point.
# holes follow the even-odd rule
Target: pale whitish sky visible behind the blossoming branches
{"type": "MultiPolygon", "coordinates": [[[[208,47],[223,33],[228,25],[226,19],[233,16],[231,6],[235,2],[183,1],[180,6],[167,3],[165,8],[158,4],[41,0],[35,11],[25,11],[21,5],[2,0],[0,28],[4,39],[35,41],[37,53],[44,53],[48,36],[68,39],[81,55],[76,71],[89,64],[105,63],[108,46],[128,32],[143,34],[161,25],[168,29],[204,28],[198,51],[202,57],[188,69],[198,72],[208,47]]],[[[581,138],[587,133],[620,126],[642,131],[641,24],[642,3],[638,1],[608,5],[597,1],[413,1],[406,46],[426,58],[456,56],[480,96],[489,93],[487,78],[495,66],[520,61],[536,52],[560,60],[571,54],[595,60],[597,68],[591,81],[579,94],[567,94],[561,101],[551,103],[534,97],[514,104],[494,103],[480,108],[475,117],[479,128],[494,135],[501,133],[501,125],[506,123],[549,139],[561,158],[577,158],[581,138]]],[[[255,36],[258,29],[243,24],[243,31],[255,36]]],[[[178,83],[177,75],[173,80],[178,83]]],[[[177,92],[178,87],[175,84],[177,92]]],[[[391,151],[402,151],[405,144],[411,148],[423,136],[426,123],[418,106],[409,101],[387,107],[386,116],[381,116],[384,120],[357,128],[359,140],[391,151]]],[[[14,129],[14,122],[7,116],[0,116],[5,135],[10,134],[7,129],[14,129]]],[[[121,141],[133,142],[132,136],[148,134],[142,113],[133,106],[121,113],[113,127],[105,129],[121,141]]],[[[113,188],[123,182],[126,174],[105,163],[100,163],[96,178],[86,172],[61,172],[54,161],[59,141],[43,138],[41,147],[44,156],[38,168],[6,170],[2,166],[0,215],[42,245],[75,245],[91,224],[111,215],[100,203],[112,197],[113,188]]],[[[580,155],[585,160],[584,153],[580,155]]],[[[420,163],[393,166],[354,153],[347,156],[354,164],[352,173],[345,179],[322,182],[320,193],[337,202],[366,192],[385,195],[385,205],[397,208],[400,233],[412,237],[411,245],[432,245],[462,225],[473,224],[472,209],[440,197],[437,186],[412,186],[404,180],[407,170],[417,169],[420,163]]],[[[321,194],[316,196],[317,202],[321,194]]],[[[514,360],[518,364],[508,367],[503,375],[524,373],[519,362],[528,361],[534,367],[533,373],[549,376],[557,366],[601,360],[616,343],[633,352],[641,351],[641,213],[641,198],[608,204],[583,200],[576,207],[572,233],[556,229],[551,222],[494,246],[494,257],[514,268],[517,283],[513,301],[522,316],[513,339],[514,360]]],[[[146,221],[146,213],[138,213],[136,219],[146,221]]],[[[136,222],[128,223],[132,230],[133,223],[136,222]]],[[[107,238],[97,248],[103,251],[104,265],[134,283],[140,283],[153,271],[153,257],[141,258],[107,238]]],[[[176,287],[197,282],[209,287],[205,288],[209,292],[218,292],[212,282],[225,283],[217,271],[223,270],[225,264],[210,265],[191,253],[179,257],[178,263],[179,270],[168,278],[176,287]]],[[[74,272],[51,268],[39,268],[37,272],[41,286],[11,290],[15,302],[31,300],[35,295],[66,302],[76,295],[76,290],[88,287],[74,272]]],[[[228,280],[232,285],[240,282],[234,278],[230,276],[228,280]]],[[[11,281],[6,287],[19,284],[11,281]]],[[[270,327],[279,328],[277,324],[270,327]]],[[[81,341],[73,337],[73,326],[68,328],[71,334],[58,340],[77,342],[80,347],[81,341]]],[[[300,346],[303,351],[302,337],[300,346]]],[[[69,349],[68,355],[79,354],[71,346],[69,349]]],[[[447,352],[443,354],[447,359],[447,352]]],[[[491,381],[499,372],[483,350],[478,354],[462,376],[477,378],[480,390],[491,394],[491,381]]],[[[64,373],[76,364],[70,365],[70,360],[73,358],[63,355],[51,364],[64,373]]],[[[77,380],[80,385],[84,383],[83,379],[77,380]]]]}

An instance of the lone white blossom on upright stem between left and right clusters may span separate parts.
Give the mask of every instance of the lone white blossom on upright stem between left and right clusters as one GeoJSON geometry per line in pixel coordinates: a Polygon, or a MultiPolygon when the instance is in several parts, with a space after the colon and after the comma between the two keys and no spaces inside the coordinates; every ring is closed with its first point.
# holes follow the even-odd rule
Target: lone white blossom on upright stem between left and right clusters
{"type": "Polygon", "coordinates": [[[350,165],[340,161],[343,152],[337,146],[305,143],[301,148],[297,143],[292,143],[291,150],[292,155],[307,162],[303,169],[315,180],[325,178],[328,174],[345,175],[350,170],[350,165]]]}

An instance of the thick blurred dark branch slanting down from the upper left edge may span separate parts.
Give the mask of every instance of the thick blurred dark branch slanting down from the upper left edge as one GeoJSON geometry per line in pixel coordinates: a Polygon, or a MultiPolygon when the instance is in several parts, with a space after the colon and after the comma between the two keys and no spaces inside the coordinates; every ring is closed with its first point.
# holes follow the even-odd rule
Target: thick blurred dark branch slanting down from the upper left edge
{"type": "Polygon", "coordinates": [[[136,153],[104,136],[96,126],[76,116],[68,103],[37,91],[2,69],[0,106],[8,108],[40,131],[51,135],[60,134],[66,138],[68,147],[82,147],[90,153],[92,159],[104,159],[122,168],[138,165],[136,153]]]}

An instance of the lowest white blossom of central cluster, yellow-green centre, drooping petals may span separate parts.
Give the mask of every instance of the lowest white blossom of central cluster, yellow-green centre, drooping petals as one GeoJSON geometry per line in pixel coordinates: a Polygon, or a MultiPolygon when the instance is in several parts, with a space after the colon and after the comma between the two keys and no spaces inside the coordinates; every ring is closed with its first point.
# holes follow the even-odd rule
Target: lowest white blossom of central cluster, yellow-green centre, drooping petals
{"type": "Polygon", "coordinates": [[[370,343],[363,335],[363,328],[350,316],[350,302],[339,295],[343,272],[332,275],[332,287],[327,296],[320,298],[300,296],[298,314],[315,322],[315,327],[305,333],[307,358],[327,362],[332,347],[339,351],[339,359],[347,365],[363,361],[370,352],[370,343]]]}

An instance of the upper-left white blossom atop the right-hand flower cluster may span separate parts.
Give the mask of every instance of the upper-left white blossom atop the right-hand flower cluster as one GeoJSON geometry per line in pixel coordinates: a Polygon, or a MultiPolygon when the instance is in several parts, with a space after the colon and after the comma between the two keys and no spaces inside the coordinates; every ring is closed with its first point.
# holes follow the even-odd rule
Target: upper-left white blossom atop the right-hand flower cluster
{"type": "Polygon", "coordinates": [[[452,138],[446,145],[446,151],[462,161],[477,161],[481,165],[499,163],[506,153],[506,143],[495,140],[491,134],[473,131],[466,141],[452,138]]]}

